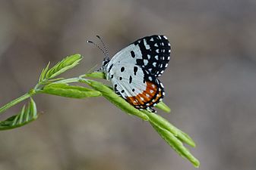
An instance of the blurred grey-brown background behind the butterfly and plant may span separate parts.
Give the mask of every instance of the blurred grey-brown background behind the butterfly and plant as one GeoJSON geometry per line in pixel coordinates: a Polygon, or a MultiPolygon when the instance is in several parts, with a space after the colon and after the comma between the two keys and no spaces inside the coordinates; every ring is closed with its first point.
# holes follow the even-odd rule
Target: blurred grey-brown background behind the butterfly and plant
{"type": "MultiPolygon", "coordinates": [[[[160,79],[172,113],[158,113],[194,138],[199,169],[256,169],[255,16],[254,0],[1,0],[0,105],[32,88],[49,60],[82,54],[66,77],[101,64],[103,54],[86,43],[97,34],[111,54],[164,34],[172,60],[160,79]]],[[[149,123],[103,97],[35,100],[39,119],[0,131],[1,170],[194,169],[149,123]]]]}

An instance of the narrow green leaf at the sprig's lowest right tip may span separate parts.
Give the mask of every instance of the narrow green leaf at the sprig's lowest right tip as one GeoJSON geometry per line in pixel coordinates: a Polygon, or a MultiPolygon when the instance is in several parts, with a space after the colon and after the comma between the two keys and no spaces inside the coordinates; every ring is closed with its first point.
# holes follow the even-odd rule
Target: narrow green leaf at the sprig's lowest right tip
{"type": "Polygon", "coordinates": [[[196,168],[199,167],[200,162],[198,159],[196,159],[190,152],[189,150],[184,147],[182,144],[182,141],[179,141],[179,138],[176,138],[174,134],[171,132],[167,131],[164,128],[160,128],[159,126],[153,124],[150,122],[153,128],[160,134],[160,136],[169,144],[170,147],[173,148],[177,153],[179,153],[180,156],[183,158],[188,159],[196,168]]]}

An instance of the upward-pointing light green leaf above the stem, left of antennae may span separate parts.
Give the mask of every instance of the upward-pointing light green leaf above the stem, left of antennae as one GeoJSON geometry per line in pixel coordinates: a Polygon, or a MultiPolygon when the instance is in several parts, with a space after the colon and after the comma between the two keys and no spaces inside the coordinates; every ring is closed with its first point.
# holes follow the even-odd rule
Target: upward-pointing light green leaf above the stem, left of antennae
{"type": "Polygon", "coordinates": [[[81,54],[74,54],[68,57],[65,57],[62,61],[55,64],[55,66],[52,66],[51,69],[49,69],[49,63],[46,66],[46,68],[43,70],[40,76],[40,82],[43,82],[43,80],[52,79],[55,76],[60,75],[61,73],[64,73],[67,70],[70,70],[74,66],[77,66],[79,61],[82,60],[81,54]]]}

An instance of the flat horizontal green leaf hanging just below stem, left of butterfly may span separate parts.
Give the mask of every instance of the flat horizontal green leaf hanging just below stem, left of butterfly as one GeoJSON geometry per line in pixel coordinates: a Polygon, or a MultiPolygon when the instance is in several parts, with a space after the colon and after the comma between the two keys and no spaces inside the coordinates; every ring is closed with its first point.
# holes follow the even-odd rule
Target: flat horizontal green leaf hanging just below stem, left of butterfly
{"type": "Polygon", "coordinates": [[[102,96],[100,91],[81,86],[72,86],[65,83],[51,83],[46,85],[42,91],[46,94],[54,94],[62,97],[84,98],[84,97],[98,97],[102,96]]]}

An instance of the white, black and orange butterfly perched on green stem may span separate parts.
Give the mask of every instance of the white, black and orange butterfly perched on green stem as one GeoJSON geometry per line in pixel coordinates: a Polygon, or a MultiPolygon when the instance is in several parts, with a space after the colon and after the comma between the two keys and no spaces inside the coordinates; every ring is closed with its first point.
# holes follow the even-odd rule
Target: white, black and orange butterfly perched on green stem
{"type": "Polygon", "coordinates": [[[166,36],[137,39],[112,59],[104,42],[103,47],[105,51],[100,50],[106,57],[99,71],[103,71],[106,79],[112,82],[115,93],[139,110],[156,112],[152,107],[165,95],[163,84],[157,78],[166,70],[170,60],[171,46],[166,36]]]}

